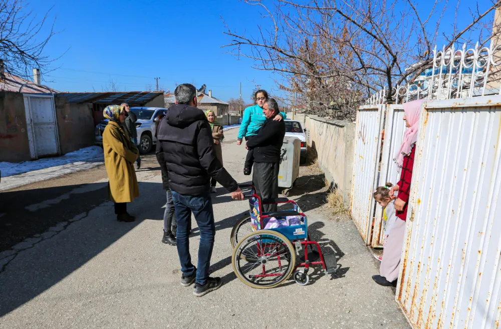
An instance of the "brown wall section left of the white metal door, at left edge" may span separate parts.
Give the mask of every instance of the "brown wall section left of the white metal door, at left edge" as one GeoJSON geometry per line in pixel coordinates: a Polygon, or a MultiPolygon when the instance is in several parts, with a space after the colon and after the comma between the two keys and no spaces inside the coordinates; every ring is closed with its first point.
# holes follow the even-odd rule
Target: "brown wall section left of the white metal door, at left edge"
{"type": "Polygon", "coordinates": [[[0,161],[31,160],[23,94],[0,92],[0,161]]]}

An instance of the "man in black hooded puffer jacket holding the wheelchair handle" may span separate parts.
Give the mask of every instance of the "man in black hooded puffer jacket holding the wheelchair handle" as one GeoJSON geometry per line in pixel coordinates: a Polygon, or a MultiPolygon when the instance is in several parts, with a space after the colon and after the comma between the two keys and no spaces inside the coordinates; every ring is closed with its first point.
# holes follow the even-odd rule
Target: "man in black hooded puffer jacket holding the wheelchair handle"
{"type": "Polygon", "coordinates": [[[158,127],[157,138],[167,163],[177,219],[177,253],[181,262],[181,284],[195,282],[193,294],[202,296],[221,286],[221,278],[209,277],[210,257],[214,246],[214,214],[210,199],[210,178],[231,192],[233,199],[243,200],[236,181],[223,168],[213,150],[212,130],[202,110],[197,109],[197,91],[182,84],[174,91],[176,104],[158,127]],[[191,263],[188,228],[191,213],[200,230],[198,269],[191,263]]]}

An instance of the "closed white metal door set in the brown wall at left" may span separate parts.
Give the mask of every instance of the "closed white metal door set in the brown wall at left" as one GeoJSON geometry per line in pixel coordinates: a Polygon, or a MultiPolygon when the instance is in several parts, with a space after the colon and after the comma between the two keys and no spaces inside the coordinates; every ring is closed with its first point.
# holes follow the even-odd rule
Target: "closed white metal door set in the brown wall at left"
{"type": "Polygon", "coordinates": [[[54,96],[23,94],[28,123],[28,140],[32,159],[58,155],[59,134],[54,96]]]}

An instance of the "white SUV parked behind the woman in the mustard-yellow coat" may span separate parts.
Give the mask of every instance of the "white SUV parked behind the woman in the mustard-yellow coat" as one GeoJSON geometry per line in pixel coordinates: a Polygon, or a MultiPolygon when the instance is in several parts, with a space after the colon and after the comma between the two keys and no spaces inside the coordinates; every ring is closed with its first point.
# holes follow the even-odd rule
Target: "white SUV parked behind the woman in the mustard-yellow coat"
{"type": "MultiPolygon", "coordinates": [[[[137,131],[137,148],[139,153],[146,154],[151,152],[155,140],[155,118],[160,114],[166,114],[167,109],[158,107],[131,107],[130,110],[134,112],[137,117],[136,131],[137,131]]],[[[103,131],[108,124],[108,119],[101,120],[96,126],[96,145],[103,145],[103,131]]]]}

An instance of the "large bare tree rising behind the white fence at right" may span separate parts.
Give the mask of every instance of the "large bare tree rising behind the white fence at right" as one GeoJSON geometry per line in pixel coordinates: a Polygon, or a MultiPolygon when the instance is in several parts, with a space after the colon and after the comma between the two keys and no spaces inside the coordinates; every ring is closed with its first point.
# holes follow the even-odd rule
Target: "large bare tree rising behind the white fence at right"
{"type": "Polygon", "coordinates": [[[264,13],[269,29],[262,24],[257,36],[245,36],[227,27],[231,42],[223,47],[255,60],[257,69],[278,73],[281,88],[299,93],[310,113],[352,119],[372,93],[394,91],[431,68],[440,34],[446,49],[487,44],[488,15],[501,0],[471,3],[470,20],[456,19],[446,32],[441,21],[452,2],[457,15],[459,0],[420,2],[419,8],[412,0],[276,0],[270,7],[245,0],[264,13]]]}

